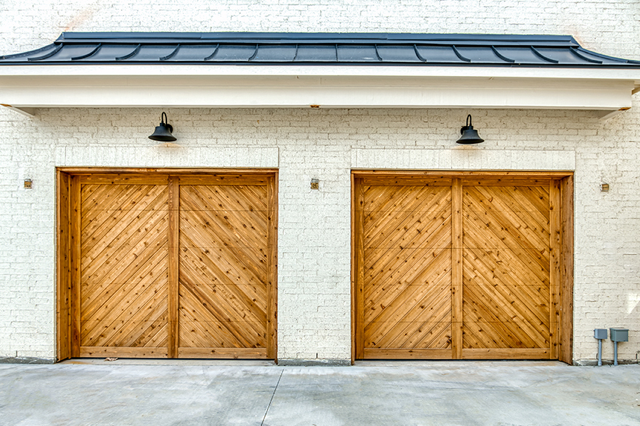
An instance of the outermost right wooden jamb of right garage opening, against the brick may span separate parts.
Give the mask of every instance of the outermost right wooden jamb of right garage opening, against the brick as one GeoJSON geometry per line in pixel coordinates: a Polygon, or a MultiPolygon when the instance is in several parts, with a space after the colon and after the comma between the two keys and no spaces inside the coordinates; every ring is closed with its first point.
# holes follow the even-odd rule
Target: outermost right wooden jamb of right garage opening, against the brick
{"type": "Polygon", "coordinates": [[[573,176],[561,181],[562,188],[562,259],[560,361],[573,363],[573,176]]]}

